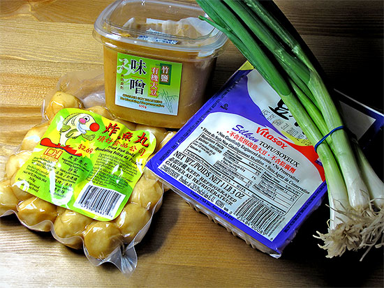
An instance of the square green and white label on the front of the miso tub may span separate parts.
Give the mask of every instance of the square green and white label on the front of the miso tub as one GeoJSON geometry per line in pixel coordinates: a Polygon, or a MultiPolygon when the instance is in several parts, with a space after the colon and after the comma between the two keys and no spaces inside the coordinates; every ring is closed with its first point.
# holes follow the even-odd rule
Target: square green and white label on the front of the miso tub
{"type": "Polygon", "coordinates": [[[182,63],[117,54],[115,104],[177,115],[182,63]]]}

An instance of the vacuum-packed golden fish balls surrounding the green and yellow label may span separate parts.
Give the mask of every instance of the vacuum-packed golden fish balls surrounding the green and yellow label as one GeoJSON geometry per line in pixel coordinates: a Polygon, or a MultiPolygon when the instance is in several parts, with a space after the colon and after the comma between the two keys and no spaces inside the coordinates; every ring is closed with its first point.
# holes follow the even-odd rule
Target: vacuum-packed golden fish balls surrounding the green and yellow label
{"type": "MultiPolygon", "coordinates": [[[[84,109],[82,102],[75,96],[64,92],[54,94],[44,111],[44,118],[52,120],[54,115],[64,108],[84,109]]],[[[87,108],[88,111],[100,114],[107,119],[124,124],[130,130],[147,130],[156,137],[156,150],[168,142],[175,132],[165,128],[157,128],[131,123],[115,118],[108,109],[102,106],[87,108]]],[[[64,245],[80,249],[84,247],[91,257],[107,258],[123,243],[131,243],[140,230],[147,225],[152,217],[155,204],[163,195],[163,187],[152,172],[145,169],[138,183],[133,188],[128,203],[115,220],[97,221],[81,213],[35,197],[20,189],[22,182],[16,181],[17,171],[31,157],[32,151],[43,138],[50,121],[31,128],[25,135],[20,152],[10,156],[6,162],[6,180],[0,182],[0,215],[7,211],[17,212],[24,225],[31,229],[49,232],[64,245]],[[53,227],[53,229],[52,229],[53,227]]],[[[25,184],[25,183],[24,183],[25,184]]],[[[27,185],[24,185],[26,187],[27,185]]],[[[156,206],[156,210],[160,205],[156,206]]]]}

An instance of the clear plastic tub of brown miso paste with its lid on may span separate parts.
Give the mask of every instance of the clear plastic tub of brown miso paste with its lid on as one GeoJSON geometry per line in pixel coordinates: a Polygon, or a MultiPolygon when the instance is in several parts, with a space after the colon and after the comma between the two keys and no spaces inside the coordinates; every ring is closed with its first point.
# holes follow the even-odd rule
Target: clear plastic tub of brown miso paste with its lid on
{"type": "Polygon", "coordinates": [[[121,119],[180,128],[205,102],[227,37],[183,1],[116,1],[94,24],[104,45],[105,100],[121,119]]]}

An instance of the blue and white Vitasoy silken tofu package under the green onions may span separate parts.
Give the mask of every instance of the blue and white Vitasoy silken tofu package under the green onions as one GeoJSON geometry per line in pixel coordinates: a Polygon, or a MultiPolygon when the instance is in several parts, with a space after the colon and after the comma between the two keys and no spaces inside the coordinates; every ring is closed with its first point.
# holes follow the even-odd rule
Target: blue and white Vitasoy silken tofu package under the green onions
{"type": "MultiPolygon", "coordinates": [[[[383,115],[344,99],[359,123],[352,132],[367,142],[383,115]]],[[[147,167],[197,211],[276,258],[327,191],[313,146],[249,63],[147,167]]]]}

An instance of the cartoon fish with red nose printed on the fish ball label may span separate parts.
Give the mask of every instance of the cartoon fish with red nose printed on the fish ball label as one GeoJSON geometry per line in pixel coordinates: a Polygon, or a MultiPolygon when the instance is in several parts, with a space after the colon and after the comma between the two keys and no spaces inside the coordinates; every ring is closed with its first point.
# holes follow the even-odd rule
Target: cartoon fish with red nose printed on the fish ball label
{"type": "Polygon", "coordinates": [[[60,129],[59,144],[66,146],[68,139],[77,138],[80,135],[90,141],[94,139],[95,135],[87,135],[87,131],[95,132],[99,128],[100,126],[91,115],[87,113],[71,114],[63,121],[63,126],[60,129]]]}

